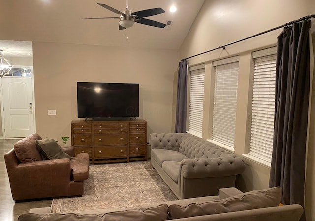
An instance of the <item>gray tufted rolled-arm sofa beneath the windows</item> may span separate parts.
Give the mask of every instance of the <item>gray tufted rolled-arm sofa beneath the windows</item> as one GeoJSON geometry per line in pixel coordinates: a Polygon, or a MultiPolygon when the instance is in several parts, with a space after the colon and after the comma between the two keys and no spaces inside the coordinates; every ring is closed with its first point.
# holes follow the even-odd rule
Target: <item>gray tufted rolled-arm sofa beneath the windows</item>
{"type": "Polygon", "coordinates": [[[241,157],[186,133],[150,134],[151,164],[178,199],[216,195],[234,187],[241,157]]]}

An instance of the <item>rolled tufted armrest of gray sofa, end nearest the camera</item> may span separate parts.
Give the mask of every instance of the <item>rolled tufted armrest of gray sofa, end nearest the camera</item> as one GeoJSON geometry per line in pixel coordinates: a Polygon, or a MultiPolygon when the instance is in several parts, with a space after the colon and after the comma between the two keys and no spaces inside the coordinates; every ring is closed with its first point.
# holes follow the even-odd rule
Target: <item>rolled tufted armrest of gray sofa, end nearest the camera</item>
{"type": "Polygon", "coordinates": [[[184,159],[180,164],[180,175],[187,179],[233,176],[244,170],[244,161],[234,157],[184,159]]]}

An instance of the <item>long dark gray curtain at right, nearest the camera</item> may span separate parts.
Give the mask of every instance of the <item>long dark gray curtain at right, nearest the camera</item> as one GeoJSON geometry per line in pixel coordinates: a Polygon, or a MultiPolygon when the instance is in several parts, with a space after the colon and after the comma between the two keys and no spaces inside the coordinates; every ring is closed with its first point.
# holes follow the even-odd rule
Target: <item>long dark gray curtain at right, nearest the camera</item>
{"type": "MultiPolygon", "coordinates": [[[[304,207],[305,153],[310,92],[311,21],[278,36],[276,106],[269,186],[282,187],[284,205],[304,207]]],[[[305,215],[301,220],[305,220],[305,215]]]]}

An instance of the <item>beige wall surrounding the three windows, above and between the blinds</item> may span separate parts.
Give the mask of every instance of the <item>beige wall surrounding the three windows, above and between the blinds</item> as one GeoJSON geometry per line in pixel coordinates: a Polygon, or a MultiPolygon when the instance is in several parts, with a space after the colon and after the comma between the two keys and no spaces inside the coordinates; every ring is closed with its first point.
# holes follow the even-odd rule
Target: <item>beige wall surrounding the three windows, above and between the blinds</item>
{"type": "MultiPolygon", "coordinates": [[[[283,25],[289,21],[314,14],[314,0],[205,0],[189,34],[183,42],[179,59],[189,57],[219,46],[249,37],[265,30],[283,25]]],[[[314,19],[313,19],[314,20],[314,19]]],[[[314,22],[313,22],[314,23],[314,22]]],[[[315,25],[313,25],[315,26],[315,25]]],[[[188,59],[189,66],[205,63],[205,99],[203,116],[203,137],[208,138],[209,119],[211,119],[210,95],[211,78],[213,77],[212,61],[225,57],[240,56],[238,105],[236,113],[235,153],[242,155],[249,148],[252,58],[251,52],[270,46],[275,46],[277,36],[282,29],[255,37],[231,46],[225,50],[219,49],[204,55],[188,59]]],[[[313,33],[313,38],[315,34],[313,33]]],[[[315,46],[314,46],[315,48],[315,46]]],[[[314,49],[313,48],[313,49],[314,49]]],[[[312,100],[315,97],[313,88],[312,100]]],[[[315,102],[313,102],[315,103],[315,102]]],[[[313,171],[315,168],[314,141],[314,104],[312,103],[312,117],[309,138],[309,155],[306,176],[306,215],[308,221],[315,220],[315,192],[312,186],[315,182],[313,171]],[[313,136],[312,136],[313,135],[313,136]]],[[[237,179],[237,186],[243,191],[267,188],[269,184],[270,168],[245,159],[248,167],[237,179]]]]}

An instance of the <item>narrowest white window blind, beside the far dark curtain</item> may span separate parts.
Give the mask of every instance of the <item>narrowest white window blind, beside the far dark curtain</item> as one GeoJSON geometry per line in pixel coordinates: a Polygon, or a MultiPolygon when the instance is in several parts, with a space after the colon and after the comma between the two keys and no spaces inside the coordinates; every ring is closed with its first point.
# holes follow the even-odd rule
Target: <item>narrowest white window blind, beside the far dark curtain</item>
{"type": "Polygon", "coordinates": [[[189,130],[187,132],[198,137],[202,137],[204,81],[204,66],[190,71],[189,130]]]}

